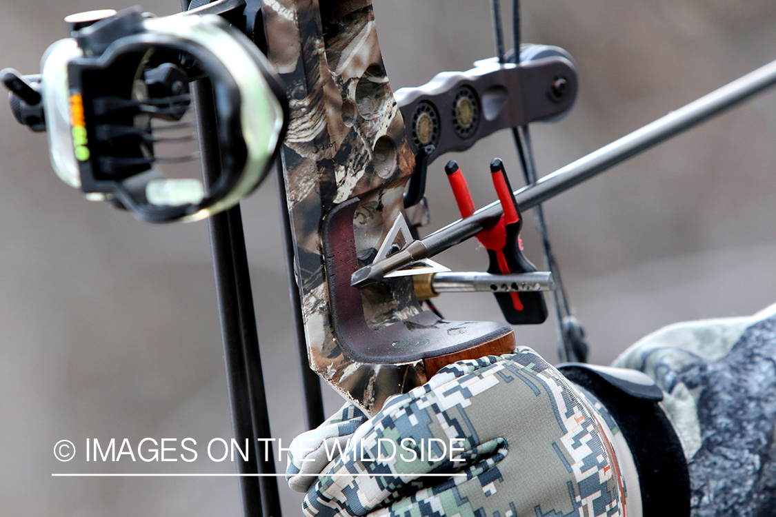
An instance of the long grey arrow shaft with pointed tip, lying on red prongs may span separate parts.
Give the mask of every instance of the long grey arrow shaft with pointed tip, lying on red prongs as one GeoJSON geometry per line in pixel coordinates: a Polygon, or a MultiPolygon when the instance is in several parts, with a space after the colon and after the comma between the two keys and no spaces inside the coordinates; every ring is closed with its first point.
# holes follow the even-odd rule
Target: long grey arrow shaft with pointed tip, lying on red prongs
{"type": "MultiPolygon", "coordinates": [[[[582,181],[608,171],[630,157],[678,133],[698,126],[726,109],[739,105],[774,84],[776,84],[776,60],[548,174],[533,186],[514,191],[514,198],[521,211],[531,209],[582,181]]],[[[404,250],[355,271],[351,284],[358,288],[366,287],[380,281],[385,274],[410,264],[413,260],[442,253],[470,239],[483,229],[493,226],[501,218],[502,213],[500,202],[490,203],[466,219],[452,222],[421,240],[413,241],[404,250]]]]}

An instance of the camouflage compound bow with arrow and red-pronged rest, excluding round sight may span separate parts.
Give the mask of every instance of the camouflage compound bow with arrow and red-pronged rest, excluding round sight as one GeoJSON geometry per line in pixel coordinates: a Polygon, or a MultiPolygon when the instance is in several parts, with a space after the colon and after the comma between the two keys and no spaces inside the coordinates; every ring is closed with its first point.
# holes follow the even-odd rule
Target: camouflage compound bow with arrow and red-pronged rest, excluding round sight
{"type": "MultiPolygon", "coordinates": [[[[418,300],[442,291],[493,291],[508,322],[539,323],[546,319],[539,291],[556,284],[560,287],[555,295],[563,338],[561,357],[584,360],[584,333],[562,289],[540,204],[776,82],[776,65],[767,65],[537,181],[528,123],[566,113],[577,92],[577,74],[563,50],[521,45],[518,2],[514,2],[513,30],[517,52],[504,51],[500,8],[494,2],[496,58],[480,61],[470,71],[439,74],[424,86],[395,94],[386,77],[369,0],[195,0],[184,2],[183,7],[188,11],[185,16],[218,14],[233,23],[265,50],[285,83],[283,93],[265,71],[265,92],[274,91],[279,105],[287,98],[289,105],[281,151],[282,196],[289,213],[289,257],[293,260],[292,291],[298,289],[294,302],[300,316],[300,343],[313,371],[371,413],[390,395],[422,384],[449,362],[514,348],[513,331],[503,323],[449,322],[432,304],[431,310],[423,310],[418,300]],[[423,191],[428,164],[442,153],[465,150],[480,137],[507,128],[514,132],[528,187],[513,193],[504,164],[494,160],[491,172],[499,201],[476,210],[459,167],[448,164],[462,219],[418,238],[417,228],[426,216],[423,191]],[[538,213],[550,270],[544,274],[536,272],[521,253],[521,211],[530,208],[538,213]],[[428,260],[472,236],[488,250],[487,274],[446,273],[428,260]]],[[[133,30],[130,35],[135,34],[133,30]]],[[[199,50],[178,50],[208,60],[199,50]]],[[[154,69],[157,67],[159,63],[154,62],[154,69]]],[[[212,81],[218,74],[217,63],[210,73],[212,81]]],[[[15,113],[20,122],[40,129],[42,112],[35,109],[40,91],[34,81],[18,74],[6,74],[4,81],[16,94],[15,113]]],[[[151,83],[147,77],[146,82],[151,83]]],[[[223,132],[230,119],[224,119],[219,104],[213,102],[213,88],[216,100],[223,98],[218,85],[199,81],[192,86],[199,100],[200,145],[210,193],[224,182],[231,187],[241,184],[239,178],[220,179],[223,157],[233,154],[230,145],[234,142],[223,132]],[[216,119],[218,124],[213,122],[216,119]]],[[[163,95],[170,109],[185,101],[169,91],[163,95]]],[[[146,106],[158,108],[153,102],[146,106]]],[[[175,112],[164,115],[177,116],[175,112]]],[[[77,148],[76,152],[82,151],[77,148]]],[[[127,163],[121,162],[122,166],[127,163]]],[[[129,167],[137,165],[132,162],[129,167]]],[[[227,172],[234,177],[233,171],[227,172]]],[[[81,184],[74,186],[90,188],[84,186],[83,178],[81,168],[81,184]]],[[[229,201],[210,212],[234,205],[260,178],[254,179],[252,185],[242,184],[241,189],[224,194],[229,201]]],[[[146,195],[153,191],[147,184],[146,195]]],[[[114,185],[111,188],[116,191],[103,198],[113,198],[144,216],[133,205],[137,204],[133,197],[137,189],[131,184],[121,186],[126,192],[114,185]]],[[[182,196],[185,203],[170,202],[169,191],[161,188],[161,201],[156,204],[185,205],[185,209],[162,211],[161,215],[153,212],[145,218],[195,219],[215,204],[209,205],[197,192],[173,194],[182,196]]],[[[140,196],[140,204],[145,201],[140,196]]],[[[268,436],[239,208],[214,215],[211,229],[224,341],[229,345],[227,369],[235,433],[238,437],[268,436]]],[[[317,379],[307,375],[305,386],[310,395],[308,421],[315,425],[323,415],[317,379]]],[[[274,465],[259,462],[241,469],[246,474],[271,474],[274,465]]],[[[254,483],[245,480],[243,496],[246,515],[258,515],[259,502],[266,515],[279,515],[277,490],[271,482],[262,483],[259,493],[254,483]]]]}

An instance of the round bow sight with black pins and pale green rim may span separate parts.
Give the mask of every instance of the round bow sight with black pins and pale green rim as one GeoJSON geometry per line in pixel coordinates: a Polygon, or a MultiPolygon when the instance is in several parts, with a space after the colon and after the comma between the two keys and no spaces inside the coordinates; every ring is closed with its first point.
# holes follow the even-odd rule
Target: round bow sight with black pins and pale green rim
{"type": "Polygon", "coordinates": [[[242,33],[219,16],[155,18],[137,8],[68,22],[72,37],[49,47],[40,76],[2,73],[16,119],[47,130],[62,181],[153,222],[203,219],[261,183],[282,140],[286,94],[242,33]],[[207,188],[199,178],[165,176],[165,164],[196,152],[161,154],[196,140],[185,117],[197,79],[212,85],[209,130],[221,151],[220,175],[207,188]]]}

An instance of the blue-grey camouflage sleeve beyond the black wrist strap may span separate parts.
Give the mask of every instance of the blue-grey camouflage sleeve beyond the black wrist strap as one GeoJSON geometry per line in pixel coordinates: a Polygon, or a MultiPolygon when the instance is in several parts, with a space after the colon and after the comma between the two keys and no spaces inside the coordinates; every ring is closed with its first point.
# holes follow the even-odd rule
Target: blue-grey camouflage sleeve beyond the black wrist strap
{"type": "Polygon", "coordinates": [[[615,366],[653,377],[687,445],[691,515],[776,515],[776,305],[751,318],[678,323],[615,366]]]}

